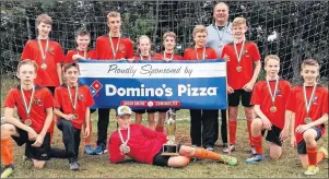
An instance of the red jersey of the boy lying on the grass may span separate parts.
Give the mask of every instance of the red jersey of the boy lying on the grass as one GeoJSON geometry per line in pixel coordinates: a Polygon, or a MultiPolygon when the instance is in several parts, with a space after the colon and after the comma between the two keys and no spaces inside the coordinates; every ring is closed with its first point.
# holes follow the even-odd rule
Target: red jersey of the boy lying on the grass
{"type": "MultiPolygon", "coordinates": [[[[121,130],[122,139],[127,140],[128,130],[121,130]]],[[[152,164],[153,157],[166,143],[166,135],[162,132],[153,131],[141,124],[130,124],[130,140],[128,146],[130,152],[126,155],[134,160],[144,164],[152,164]]],[[[108,140],[109,162],[119,163],[125,155],[120,153],[121,140],[118,131],[115,131],[108,140]]]]}

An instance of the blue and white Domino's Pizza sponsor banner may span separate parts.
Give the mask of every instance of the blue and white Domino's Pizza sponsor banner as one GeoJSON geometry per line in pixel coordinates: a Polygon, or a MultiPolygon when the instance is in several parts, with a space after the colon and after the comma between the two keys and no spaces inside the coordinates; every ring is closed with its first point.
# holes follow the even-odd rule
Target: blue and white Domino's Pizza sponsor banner
{"type": "Polygon", "coordinates": [[[227,108],[224,60],[80,60],[79,65],[80,83],[90,86],[93,108],[227,108]]]}

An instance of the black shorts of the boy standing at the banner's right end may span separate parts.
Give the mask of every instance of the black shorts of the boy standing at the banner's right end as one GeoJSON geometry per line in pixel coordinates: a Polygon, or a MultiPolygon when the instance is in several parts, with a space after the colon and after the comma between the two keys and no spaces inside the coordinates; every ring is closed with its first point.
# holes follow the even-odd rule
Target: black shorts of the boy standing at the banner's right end
{"type": "Polygon", "coordinates": [[[244,90],[234,90],[234,93],[228,94],[228,106],[238,106],[242,98],[244,107],[252,107],[250,105],[252,92],[246,92],[244,90]]]}

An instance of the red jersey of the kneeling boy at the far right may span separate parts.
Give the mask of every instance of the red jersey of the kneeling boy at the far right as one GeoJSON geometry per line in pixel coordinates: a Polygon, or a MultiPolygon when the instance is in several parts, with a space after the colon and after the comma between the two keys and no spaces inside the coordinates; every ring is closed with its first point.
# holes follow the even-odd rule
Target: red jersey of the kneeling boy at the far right
{"type": "MultiPolygon", "coordinates": [[[[306,98],[309,102],[313,86],[306,87],[306,98]]],[[[325,114],[328,114],[328,88],[324,86],[317,86],[314,95],[314,100],[312,102],[309,109],[309,117],[313,121],[319,119],[325,114]]],[[[304,102],[303,85],[297,85],[293,87],[290,98],[286,104],[286,109],[295,114],[295,129],[299,124],[305,124],[304,119],[307,117],[306,107],[304,102]]],[[[321,124],[321,133],[326,132],[325,124],[321,124]]],[[[296,142],[299,143],[303,140],[303,133],[295,132],[296,142]]]]}

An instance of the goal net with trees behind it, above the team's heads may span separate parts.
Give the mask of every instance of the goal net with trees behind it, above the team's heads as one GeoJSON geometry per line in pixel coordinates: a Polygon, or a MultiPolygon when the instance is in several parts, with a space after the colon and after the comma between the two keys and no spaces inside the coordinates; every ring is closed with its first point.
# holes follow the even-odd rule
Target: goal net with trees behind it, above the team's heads
{"type": "MultiPolygon", "coordinates": [[[[92,44],[107,33],[106,14],[118,11],[125,35],[137,40],[149,35],[154,51],[163,50],[162,35],[173,31],[178,36],[176,52],[192,43],[197,24],[212,23],[215,1],[7,1],[1,2],[1,76],[13,75],[25,43],[36,37],[35,19],[40,13],[54,20],[51,39],[64,52],[75,47],[74,32],[85,26],[92,44]]],[[[299,82],[299,63],[314,58],[320,64],[322,82],[329,79],[329,2],[328,1],[226,1],[230,21],[247,19],[247,38],[254,40],[263,58],[279,55],[281,75],[299,82]]]]}

